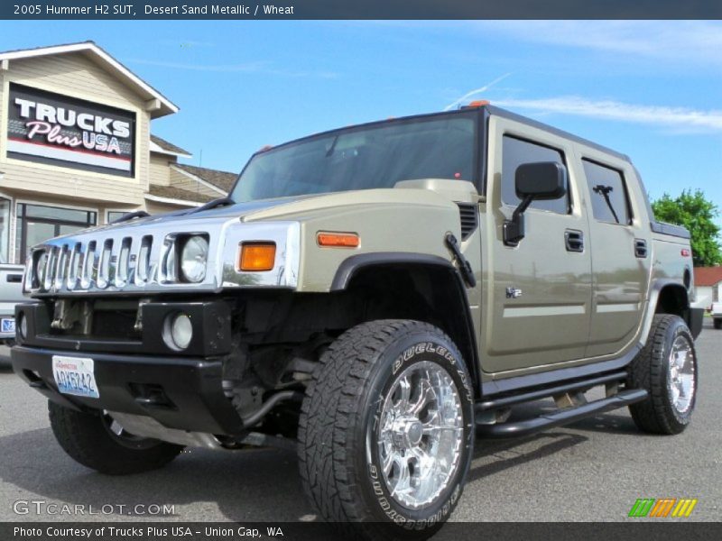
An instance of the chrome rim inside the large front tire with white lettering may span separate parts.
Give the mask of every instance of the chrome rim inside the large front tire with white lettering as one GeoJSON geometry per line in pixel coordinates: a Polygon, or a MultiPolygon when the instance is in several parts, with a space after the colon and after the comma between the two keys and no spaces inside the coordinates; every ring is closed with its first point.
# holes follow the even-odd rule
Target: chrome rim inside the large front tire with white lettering
{"type": "Polygon", "coordinates": [[[391,496],[420,509],[449,486],[464,441],[461,399],[440,365],[412,364],[393,381],[377,429],[378,460],[391,496]]]}

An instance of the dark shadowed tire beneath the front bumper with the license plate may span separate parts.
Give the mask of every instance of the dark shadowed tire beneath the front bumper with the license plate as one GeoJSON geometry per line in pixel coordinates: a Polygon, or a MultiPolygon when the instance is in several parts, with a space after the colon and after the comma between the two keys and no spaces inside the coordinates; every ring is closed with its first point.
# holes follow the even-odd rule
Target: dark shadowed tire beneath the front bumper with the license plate
{"type": "Polygon", "coordinates": [[[121,440],[97,414],[64,408],[48,401],[52,433],[69,456],[78,463],[106,473],[126,475],[147,472],[170,463],[183,447],[147,438],[121,440]]]}

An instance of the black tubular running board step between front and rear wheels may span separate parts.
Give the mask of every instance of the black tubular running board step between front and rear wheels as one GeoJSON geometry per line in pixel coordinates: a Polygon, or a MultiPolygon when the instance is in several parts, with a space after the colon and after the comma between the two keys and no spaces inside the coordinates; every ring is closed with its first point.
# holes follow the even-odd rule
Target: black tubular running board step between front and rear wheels
{"type": "Polygon", "coordinates": [[[486,437],[516,437],[529,436],[553,426],[568,425],[579,419],[604,413],[612,409],[624,408],[635,402],[647,398],[647,391],[643,389],[623,390],[606,399],[594,400],[576,408],[560,409],[553,413],[545,413],[514,423],[500,423],[496,425],[477,425],[477,434],[486,437]]]}

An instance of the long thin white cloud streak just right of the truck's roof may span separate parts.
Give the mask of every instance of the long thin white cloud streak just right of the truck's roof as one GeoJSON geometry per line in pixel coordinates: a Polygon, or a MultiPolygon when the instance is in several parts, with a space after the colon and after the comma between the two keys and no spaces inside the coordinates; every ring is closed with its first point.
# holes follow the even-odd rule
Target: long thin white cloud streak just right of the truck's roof
{"type": "Polygon", "coordinates": [[[542,99],[500,99],[494,105],[538,114],[578,115],[634,124],[672,128],[679,133],[722,133],[722,110],[699,111],[687,107],[634,105],[579,96],[542,99]]]}

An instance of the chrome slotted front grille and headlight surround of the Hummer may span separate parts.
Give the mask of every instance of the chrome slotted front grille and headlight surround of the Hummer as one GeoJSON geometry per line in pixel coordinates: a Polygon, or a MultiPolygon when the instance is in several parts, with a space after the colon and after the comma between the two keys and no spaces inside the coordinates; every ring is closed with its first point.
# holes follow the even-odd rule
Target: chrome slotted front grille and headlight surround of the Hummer
{"type": "Polygon", "coordinates": [[[223,288],[295,288],[299,267],[296,222],[241,224],[236,219],[187,220],[110,226],[51,239],[32,249],[24,276],[32,297],[103,297],[116,293],[182,293],[223,288]],[[193,235],[208,239],[206,274],[200,282],[184,280],[180,252],[193,235]],[[272,270],[236,268],[241,243],[273,242],[272,270]]]}

